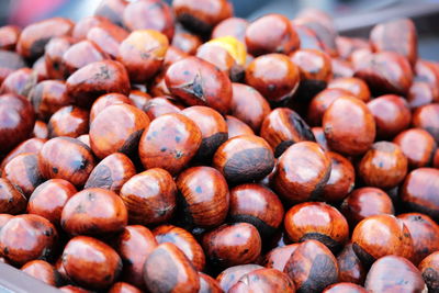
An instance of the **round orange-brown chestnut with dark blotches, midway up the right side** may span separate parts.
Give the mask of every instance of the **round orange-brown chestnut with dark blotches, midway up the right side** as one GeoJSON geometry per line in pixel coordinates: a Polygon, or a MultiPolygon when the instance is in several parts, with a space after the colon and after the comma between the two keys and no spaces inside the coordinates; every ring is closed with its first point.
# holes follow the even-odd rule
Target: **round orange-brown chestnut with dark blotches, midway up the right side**
{"type": "Polygon", "coordinates": [[[358,174],[367,185],[391,189],[404,180],[407,165],[407,158],[398,145],[378,142],[364,154],[358,174]]]}

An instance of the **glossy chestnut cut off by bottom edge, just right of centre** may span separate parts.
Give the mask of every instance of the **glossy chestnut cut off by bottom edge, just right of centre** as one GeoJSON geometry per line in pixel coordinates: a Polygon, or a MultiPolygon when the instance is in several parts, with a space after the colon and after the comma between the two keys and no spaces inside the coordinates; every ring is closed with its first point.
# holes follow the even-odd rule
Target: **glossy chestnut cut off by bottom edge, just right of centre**
{"type": "Polygon", "coordinates": [[[290,278],[275,269],[260,269],[243,275],[227,292],[284,292],[294,293],[290,278]]]}

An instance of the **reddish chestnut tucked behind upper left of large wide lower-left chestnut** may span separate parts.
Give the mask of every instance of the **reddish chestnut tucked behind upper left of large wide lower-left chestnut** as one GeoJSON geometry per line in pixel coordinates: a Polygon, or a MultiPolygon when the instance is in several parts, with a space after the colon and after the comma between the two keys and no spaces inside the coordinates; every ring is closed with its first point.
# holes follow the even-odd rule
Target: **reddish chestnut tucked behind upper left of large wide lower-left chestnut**
{"type": "Polygon", "coordinates": [[[43,216],[55,226],[59,226],[63,207],[76,193],[76,188],[66,180],[47,180],[32,192],[27,203],[27,213],[43,216]]]}

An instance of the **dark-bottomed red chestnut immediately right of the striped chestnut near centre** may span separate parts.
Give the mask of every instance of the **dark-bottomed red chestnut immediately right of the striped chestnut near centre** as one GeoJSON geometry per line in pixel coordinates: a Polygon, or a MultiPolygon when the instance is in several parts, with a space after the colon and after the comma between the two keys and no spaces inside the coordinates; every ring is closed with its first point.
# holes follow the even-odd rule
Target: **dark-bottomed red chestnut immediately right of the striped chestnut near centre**
{"type": "Polygon", "coordinates": [[[271,237],[283,219],[284,210],[278,195],[263,185],[247,183],[230,190],[230,222],[252,224],[263,239],[271,237]]]}

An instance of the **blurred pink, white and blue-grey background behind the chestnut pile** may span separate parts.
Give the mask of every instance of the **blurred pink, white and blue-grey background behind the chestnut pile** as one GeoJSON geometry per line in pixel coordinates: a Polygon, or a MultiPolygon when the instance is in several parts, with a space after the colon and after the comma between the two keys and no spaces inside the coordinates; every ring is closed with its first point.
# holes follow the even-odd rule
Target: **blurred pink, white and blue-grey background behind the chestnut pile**
{"type": "MultiPolygon", "coordinates": [[[[166,0],[170,3],[172,0],[166,0]]],[[[202,1],[202,0],[200,0],[202,1]]],[[[93,14],[100,0],[0,0],[0,24],[25,26],[49,16],[78,20],[93,14]]],[[[235,14],[248,20],[267,13],[294,18],[305,8],[318,8],[336,20],[341,34],[369,36],[379,22],[412,18],[419,33],[419,53],[439,60],[439,0],[232,0],[235,14]]]]}

